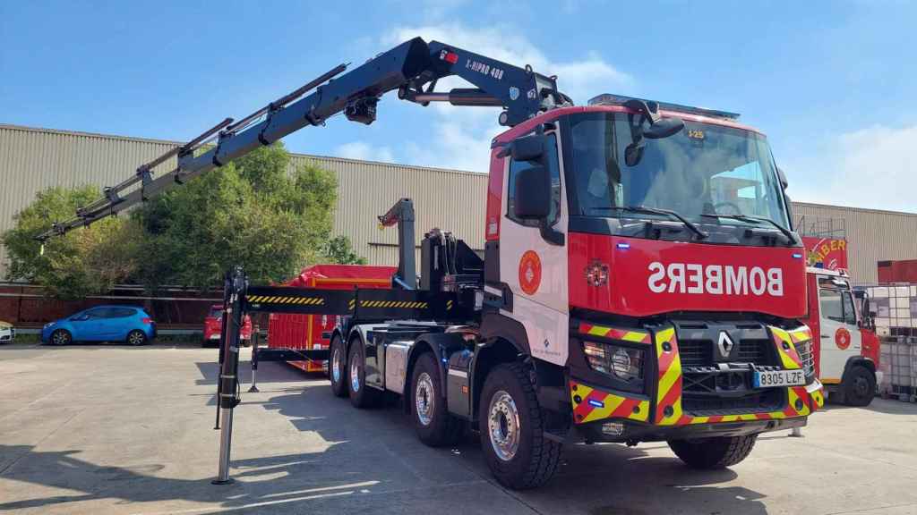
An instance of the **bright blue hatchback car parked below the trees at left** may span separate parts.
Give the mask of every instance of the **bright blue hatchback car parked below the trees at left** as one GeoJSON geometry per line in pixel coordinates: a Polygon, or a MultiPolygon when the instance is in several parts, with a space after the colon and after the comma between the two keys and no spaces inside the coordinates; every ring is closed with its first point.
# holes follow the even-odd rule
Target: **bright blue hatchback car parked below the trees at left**
{"type": "Polygon", "coordinates": [[[144,345],[156,337],[156,323],[137,306],[95,306],[66,318],[46,323],[41,343],[125,342],[144,345]]]}

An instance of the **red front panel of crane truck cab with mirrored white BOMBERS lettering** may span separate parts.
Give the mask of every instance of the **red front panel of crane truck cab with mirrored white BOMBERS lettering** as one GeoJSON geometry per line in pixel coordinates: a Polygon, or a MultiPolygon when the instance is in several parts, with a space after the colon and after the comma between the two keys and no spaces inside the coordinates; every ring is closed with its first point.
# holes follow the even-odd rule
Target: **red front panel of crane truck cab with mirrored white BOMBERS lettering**
{"type": "Polygon", "coordinates": [[[802,252],[571,233],[570,305],[628,316],[709,311],[799,318],[806,312],[802,252]]]}

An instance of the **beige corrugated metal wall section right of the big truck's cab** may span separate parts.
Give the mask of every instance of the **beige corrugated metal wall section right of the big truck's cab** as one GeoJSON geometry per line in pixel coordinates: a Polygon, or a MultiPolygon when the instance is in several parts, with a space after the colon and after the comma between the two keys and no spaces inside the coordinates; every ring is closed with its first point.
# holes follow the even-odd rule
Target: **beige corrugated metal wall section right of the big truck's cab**
{"type": "Polygon", "coordinates": [[[856,284],[878,281],[877,261],[917,258],[917,214],[793,203],[793,216],[844,221],[847,265],[856,284]]]}

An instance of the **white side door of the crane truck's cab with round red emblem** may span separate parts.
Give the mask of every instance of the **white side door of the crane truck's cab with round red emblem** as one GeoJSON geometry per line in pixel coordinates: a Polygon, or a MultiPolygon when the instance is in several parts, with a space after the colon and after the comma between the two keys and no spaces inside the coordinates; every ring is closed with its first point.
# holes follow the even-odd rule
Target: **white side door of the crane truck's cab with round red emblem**
{"type": "Polygon", "coordinates": [[[532,356],[564,365],[568,355],[567,201],[559,137],[546,133],[538,162],[504,159],[500,224],[500,279],[513,292],[511,316],[525,327],[532,356]],[[551,208],[544,223],[514,215],[520,171],[545,166],[551,179],[551,208]],[[542,224],[546,227],[543,229],[542,224]]]}

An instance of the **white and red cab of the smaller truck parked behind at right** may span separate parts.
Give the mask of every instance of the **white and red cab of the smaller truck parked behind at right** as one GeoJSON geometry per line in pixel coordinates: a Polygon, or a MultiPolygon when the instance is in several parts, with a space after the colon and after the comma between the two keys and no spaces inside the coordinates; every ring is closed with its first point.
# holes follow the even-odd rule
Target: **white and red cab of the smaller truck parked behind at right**
{"type": "Polygon", "coordinates": [[[803,355],[830,397],[867,406],[882,380],[878,337],[872,330],[868,298],[856,295],[840,270],[806,268],[812,354],[803,355]]]}

